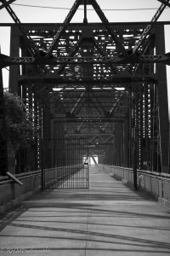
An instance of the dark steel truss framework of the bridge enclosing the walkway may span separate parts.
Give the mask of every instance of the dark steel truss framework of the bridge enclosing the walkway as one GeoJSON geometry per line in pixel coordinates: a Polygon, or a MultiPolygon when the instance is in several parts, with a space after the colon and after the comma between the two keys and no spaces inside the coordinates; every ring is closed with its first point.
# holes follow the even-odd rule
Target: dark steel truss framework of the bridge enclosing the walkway
{"type": "MultiPolygon", "coordinates": [[[[169,172],[169,121],[164,25],[157,21],[170,1],[150,22],[109,22],[97,0],[76,0],[60,24],[21,23],[10,3],[0,1],[13,18],[9,89],[26,102],[40,128],[33,148],[17,152],[20,170],[37,170],[54,158],[53,141],[88,139],[88,155],[99,163],[169,172]],[[82,23],[71,23],[79,6],[82,23]],[[101,22],[88,23],[87,5],[101,22]],[[44,147],[44,143],[45,147],[44,147]],[[42,160],[42,148],[45,158],[42,160]]],[[[8,170],[1,73],[0,169],[8,170]]],[[[56,154],[62,145],[56,144],[56,154]]],[[[87,157],[87,155],[84,155],[87,157]]],[[[64,163],[62,163],[63,165],[64,163]]]]}

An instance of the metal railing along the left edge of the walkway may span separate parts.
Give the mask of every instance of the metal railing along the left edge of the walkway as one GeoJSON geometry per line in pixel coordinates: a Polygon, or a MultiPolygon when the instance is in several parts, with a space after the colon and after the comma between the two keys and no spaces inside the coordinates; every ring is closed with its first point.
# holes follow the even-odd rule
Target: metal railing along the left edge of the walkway
{"type": "MultiPolygon", "coordinates": [[[[73,167],[74,168],[71,169],[71,166],[69,166],[69,170],[73,170],[74,172],[78,170],[77,168],[75,169],[75,166],[73,167]]],[[[55,168],[55,172],[58,172],[57,177],[59,184],[61,184],[62,181],[65,182],[65,179],[71,175],[71,173],[68,172],[67,166],[65,166],[65,168],[57,167],[55,168]]],[[[43,170],[43,175],[46,176],[46,179],[43,180],[44,186],[49,188],[50,185],[53,185],[52,182],[54,182],[51,178],[51,176],[54,176],[53,168],[43,170]]],[[[17,177],[23,185],[20,186],[18,183],[14,183],[14,180],[8,176],[0,177],[0,212],[7,211],[9,208],[19,204],[20,201],[26,200],[42,189],[42,170],[14,174],[14,177],[17,177]]]]}

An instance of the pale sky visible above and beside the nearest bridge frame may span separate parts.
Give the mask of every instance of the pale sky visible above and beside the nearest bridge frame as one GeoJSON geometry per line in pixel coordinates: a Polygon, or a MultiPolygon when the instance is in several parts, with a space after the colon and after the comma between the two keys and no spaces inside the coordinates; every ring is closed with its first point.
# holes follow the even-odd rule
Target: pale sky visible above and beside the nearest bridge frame
{"type": "MultiPolygon", "coordinates": [[[[157,0],[96,0],[110,22],[150,21],[161,3],[157,0]],[[135,10],[134,10],[135,9],[135,10]]],[[[75,0],[16,0],[11,8],[23,23],[62,23],[75,0]],[[34,5],[30,7],[23,5],[34,5]],[[44,8],[43,8],[44,7],[44,8]]],[[[77,10],[71,22],[82,22],[83,6],[77,10]]],[[[100,22],[98,15],[88,6],[88,22],[100,22]],[[90,10],[91,9],[91,10],[90,10]]],[[[170,21],[170,8],[158,21],[170,21]]],[[[14,23],[6,9],[0,9],[0,23],[14,23]]],[[[0,26],[0,47],[9,55],[10,28],[0,26]]],[[[170,52],[170,25],[165,26],[166,52],[170,52]]],[[[3,68],[3,86],[8,87],[8,70],[3,68]]],[[[170,67],[167,67],[167,89],[170,113],[170,67]]],[[[169,114],[170,116],[170,114],[169,114]]]]}

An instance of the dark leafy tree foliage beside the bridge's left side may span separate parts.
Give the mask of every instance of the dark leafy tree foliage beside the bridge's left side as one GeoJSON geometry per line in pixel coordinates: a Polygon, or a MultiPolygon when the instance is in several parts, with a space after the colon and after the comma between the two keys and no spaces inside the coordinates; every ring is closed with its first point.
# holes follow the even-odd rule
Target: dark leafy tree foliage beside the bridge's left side
{"type": "Polygon", "coordinates": [[[8,145],[14,149],[27,147],[37,136],[37,127],[31,113],[26,112],[26,105],[20,96],[4,90],[4,106],[6,112],[6,128],[8,145]]]}

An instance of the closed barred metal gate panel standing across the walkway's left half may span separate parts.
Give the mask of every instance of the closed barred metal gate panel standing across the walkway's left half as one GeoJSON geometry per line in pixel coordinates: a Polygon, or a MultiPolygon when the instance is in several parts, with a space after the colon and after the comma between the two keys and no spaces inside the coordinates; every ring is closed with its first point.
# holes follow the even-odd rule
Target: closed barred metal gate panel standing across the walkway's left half
{"type": "Polygon", "coordinates": [[[42,189],[88,189],[87,139],[43,141],[42,189]]]}

